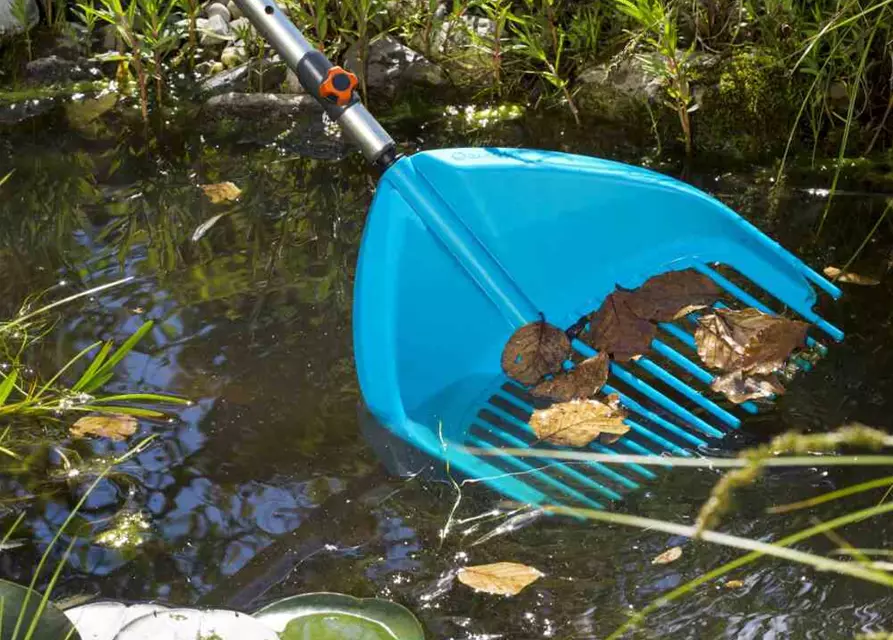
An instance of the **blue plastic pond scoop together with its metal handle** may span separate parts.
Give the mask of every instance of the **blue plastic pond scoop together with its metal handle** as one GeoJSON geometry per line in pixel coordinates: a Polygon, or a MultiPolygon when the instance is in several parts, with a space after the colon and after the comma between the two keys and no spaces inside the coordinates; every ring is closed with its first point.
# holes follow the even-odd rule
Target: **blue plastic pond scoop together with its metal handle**
{"type": "MultiPolygon", "coordinates": [[[[382,425],[448,461],[453,473],[514,500],[587,507],[654,477],[636,464],[570,466],[464,447],[549,446],[529,427],[529,390],[503,372],[503,348],[531,322],[568,329],[618,286],[693,269],[741,307],[794,312],[812,325],[812,344],[843,338],[813,310],[817,290],[838,298],[839,289],[707,194],[652,171],[548,151],[397,157],[355,95],[336,100],[322,84],[350,74],[306,45],[272,1],[239,3],[383,171],[355,285],[360,388],[382,425]]],[[[619,395],[630,431],[590,450],[692,456],[738,429],[738,414],[756,410],[708,395],[714,376],[699,362],[692,333],[690,318],[662,323],[644,357],[611,364],[601,393],[619,395]]],[[[596,353],[579,339],[573,347],[596,353]]]]}

